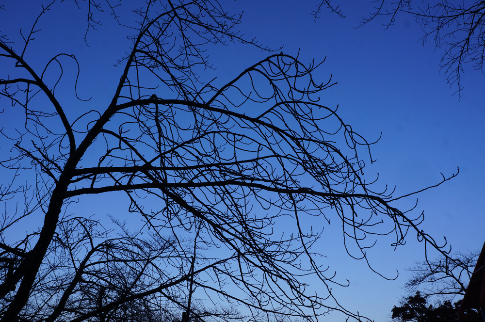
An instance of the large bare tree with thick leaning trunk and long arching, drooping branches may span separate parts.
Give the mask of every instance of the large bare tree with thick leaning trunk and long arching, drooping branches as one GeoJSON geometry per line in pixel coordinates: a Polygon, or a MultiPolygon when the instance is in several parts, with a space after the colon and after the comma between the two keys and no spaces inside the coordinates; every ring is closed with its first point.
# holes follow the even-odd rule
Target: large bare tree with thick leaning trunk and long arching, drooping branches
{"type": "MultiPolygon", "coordinates": [[[[319,64],[272,54],[221,86],[201,83],[206,46],[265,49],[217,1],[147,1],[135,23],[120,22],[132,47],[110,103],[69,109],[52,67],[79,66],[76,56],[40,65],[32,49],[56,21],[44,20],[49,9],[72,4],[43,6],[23,44],[0,41],[1,104],[24,118],[15,129],[1,121],[0,164],[11,178],[0,189],[2,322],[152,321],[153,310],[175,320],[315,321],[332,310],[361,320],[333,297],[341,283],[311,248],[330,220],[354,258],[367,260],[383,235],[403,244],[409,229],[445,254],[418,227],[422,213],[392,206],[404,196],[364,179],[371,144],[320,102],[334,83],[313,79],[319,64]],[[110,228],[85,214],[97,194],[114,204],[124,196],[130,221],[112,215],[110,228]],[[36,218],[41,227],[21,233],[36,218]]],[[[88,31],[103,6],[121,19],[108,0],[75,4],[88,31]]]]}

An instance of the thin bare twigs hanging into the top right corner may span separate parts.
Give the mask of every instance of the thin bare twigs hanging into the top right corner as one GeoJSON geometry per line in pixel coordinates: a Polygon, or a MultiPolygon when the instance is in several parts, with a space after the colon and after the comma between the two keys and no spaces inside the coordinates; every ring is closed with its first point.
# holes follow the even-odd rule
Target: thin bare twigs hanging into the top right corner
{"type": "MultiPolygon", "coordinates": [[[[458,95],[463,90],[460,77],[465,66],[471,66],[483,73],[485,59],[485,2],[475,1],[413,1],[399,0],[374,2],[374,11],[364,15],[361,23],[366,24],[377,17],[386,18],[384,26],[389,28],[399,13],[410,14],[423,27],[422,44],[431,37],[436,48],[443,50],[440,67],[450,85],[456,84],[458,95]]],[[[321,15],[322,8],[343,16],[339,6],[329,0],[319,2],[313,15],[321,15]]]]}

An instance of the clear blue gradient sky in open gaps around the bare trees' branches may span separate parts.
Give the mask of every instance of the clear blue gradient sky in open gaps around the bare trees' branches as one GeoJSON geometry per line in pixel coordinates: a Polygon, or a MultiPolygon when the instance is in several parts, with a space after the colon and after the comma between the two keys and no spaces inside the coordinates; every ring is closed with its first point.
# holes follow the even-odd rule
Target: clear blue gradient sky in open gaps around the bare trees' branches
{"type": "MultiPolygon", "coordinates": [[[[382,132],[380,142],[372,147],[377,162],[366,167],[368,178],[379,173],[378,187],[396,186],[396,196],[406,194],[436,184],[440,173],[450,176],[459,167],[458,177],[417,196],[416,211],[425,211],[422,229],[437,240],[446,236],[453,251],[480,249],[485,238],[484,76],[466,66],[459,100],[453,96],[456,86],[450,88],[439,73],[442,49],[435,49],[432,39],[421,46],[423,32],[412,16],[397,16],[388,30],[382,26],[385,20],[356,29],[360,18],[372,11],[372,3],[334,1],[339,2],[345,18],[323,11],[316,23],[311,11],[318,0],[298,4],[290,0],[223,0],[221,4],[232,13],[244,12],[240,29],[247,38],[256,37],[277,52],[296,55],[300,51],[301,60],[308,63],[326,57],[317,77],[326,81],[333,74],[338,84],[323,93],[322,102],[329,107],[339,104],[339,115],[369,141],[382,132]]],[[[40,5],[37,1],[5,3],[7,10],[0,10],[0,34],[18,41],[18,30],[30,29],[40,5]]],[[[81,64],[79,95],[93,96],[101,104],[107,102],[105,94],[112,92],[119,77],[120,68],[113,64],[129,50],[130,43],[126,34],[116,32],[119,29],[110,16],[99,17],[103,25],[88,34],[87,47],[83,41],[85,16],[73,2],[56,7],[45,16],[28,57],[45,64],[55,53],[76,54],[81,64]]],[[[268,55],[241,44],[209,47],[208,54],[215,70],[207,70],[201,77],[217,76],[221,82],[268,55]]],[[[75,73],[75,69],[66,73],[75,73]]],[[[67,80],[72,81],[72,75],[67,80]]],[[[0,101],[2,109],[5,103],[0,101]]],[[[8,111],[0,117],[9,117],[8,111]]],[[[410,197],[398,206],[410,208],[415,201],[416,197],[410,197]]],[[[97,212],[103,211],[110,209],[97,208],[97,212]]],[[[351,283],[334,290],[340,304],[376,322],[388,321],[392,306],[405,295],[405,268],[424,258],[423,244],[411,233],[406,245],[396,251],[390,238],[380,240],[369,251],[371,264],[379,273],[395,277],[399,271],[396,280],[387,281],[372,273],[364,261],[348,257],[338,223],[331,229],[335,231],[325,234],[322,249],[315,251],[327,256],[338,280],[351,283]]],[[[342,321],[342,317],[331,315],[324,321],[342,321]]]]}

